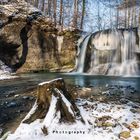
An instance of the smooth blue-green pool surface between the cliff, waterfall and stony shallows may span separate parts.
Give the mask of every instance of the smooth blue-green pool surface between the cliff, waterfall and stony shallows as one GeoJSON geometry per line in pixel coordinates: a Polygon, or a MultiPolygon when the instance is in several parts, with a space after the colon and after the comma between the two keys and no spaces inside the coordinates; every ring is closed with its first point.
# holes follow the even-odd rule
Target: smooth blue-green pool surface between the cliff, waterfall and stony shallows
{"type": "Polygon", "coordinates": [[[67,84],[85,87],[102,87],[107,85],[131,86],[140,91],[140,77],[93,76],[67,73],[28,73],[19,78],[0,81],[0,94],[14,91],[23,91],[36,87],[40,82],[54,78],[64,78],[67,84]]]}

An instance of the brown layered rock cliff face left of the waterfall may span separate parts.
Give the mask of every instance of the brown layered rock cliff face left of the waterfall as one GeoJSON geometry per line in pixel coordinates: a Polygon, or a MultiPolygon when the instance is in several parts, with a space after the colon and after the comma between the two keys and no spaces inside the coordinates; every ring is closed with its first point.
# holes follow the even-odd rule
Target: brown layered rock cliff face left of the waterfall
{"type": "Polygon", "coordinates": [[[74,67],[79,31],[59,31],[24,1],[0,5],[0,60],[16,72],[74,67]]]}

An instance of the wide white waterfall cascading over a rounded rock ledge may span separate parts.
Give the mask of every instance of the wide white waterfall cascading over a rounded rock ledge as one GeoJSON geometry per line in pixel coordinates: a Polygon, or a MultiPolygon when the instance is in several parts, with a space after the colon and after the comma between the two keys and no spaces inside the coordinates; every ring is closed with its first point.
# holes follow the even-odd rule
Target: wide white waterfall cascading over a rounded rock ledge
{"type": "Polygon", "coordinates": [[[139,66],[136,57],[136,51],[140,50],[138,40],[137,30],[105,30],[86,36],[79,47],[77,72],[93,75],[138,75],[139,66]],[[90,68],[84,71],[89,45],[90,68]]]}

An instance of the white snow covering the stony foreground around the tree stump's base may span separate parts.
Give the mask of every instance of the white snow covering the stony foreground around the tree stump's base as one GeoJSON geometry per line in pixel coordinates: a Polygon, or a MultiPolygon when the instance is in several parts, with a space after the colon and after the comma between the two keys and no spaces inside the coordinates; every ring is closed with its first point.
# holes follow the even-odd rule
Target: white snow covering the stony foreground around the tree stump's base
{"type": "Polygon", "coordinates": [[[87,99],[79,99],[76,104],[85,124],[79,121],[75,124],[60,124],[58,112],[48,126],[48,135],[42,132],[45,121],[38,119],[31,124],[21,123],[7,140],[119,140],[121,132],[127,132],[122,140],[125,140],[124,137],[127,140],[140,139],[139,104],[90,102],[87,99]]]}

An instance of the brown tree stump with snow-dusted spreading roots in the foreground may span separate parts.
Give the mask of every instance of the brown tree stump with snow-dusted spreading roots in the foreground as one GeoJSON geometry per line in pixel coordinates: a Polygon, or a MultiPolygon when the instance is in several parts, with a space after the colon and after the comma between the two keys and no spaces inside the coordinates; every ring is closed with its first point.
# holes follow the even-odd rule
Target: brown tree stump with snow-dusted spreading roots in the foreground
{"type": "Polygon", "coordinates": [[[68,93],[62,78],[40,83],[37,92],[36,102],[23,123],[44,119],[44,125],[48,127],[47,125],[51,122],[49,120],[54,119],[58,111],[60,112],[60,122],[74,123],[78,119],[84,123],[80,111],[71,94],[68,93]]]}

